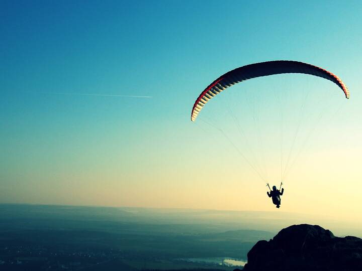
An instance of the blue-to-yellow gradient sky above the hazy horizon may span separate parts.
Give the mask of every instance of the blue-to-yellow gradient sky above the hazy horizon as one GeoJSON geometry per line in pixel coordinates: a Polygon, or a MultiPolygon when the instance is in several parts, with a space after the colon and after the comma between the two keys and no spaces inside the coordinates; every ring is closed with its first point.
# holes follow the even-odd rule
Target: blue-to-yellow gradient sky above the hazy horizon
{"type": "Polygon", "coordinates": [[[1,1],[0,201],[274,210],[265,182],[202,119],[224,125],[250,159],[223,115],[232,104],[260,154],[246,110],[257,106],[267,178],[278,184],[282,122],[274,121],[285,110],[286,158],[295,106],[307,97],[306,114],[324,112],[323,125],[302,117],[283,210],[360,223],[361,14],[360,1],[1,1]],[[215,78],[279,59],[332,71],[351,98],[321,78],[260,78],[190,121],[215,78]]]}

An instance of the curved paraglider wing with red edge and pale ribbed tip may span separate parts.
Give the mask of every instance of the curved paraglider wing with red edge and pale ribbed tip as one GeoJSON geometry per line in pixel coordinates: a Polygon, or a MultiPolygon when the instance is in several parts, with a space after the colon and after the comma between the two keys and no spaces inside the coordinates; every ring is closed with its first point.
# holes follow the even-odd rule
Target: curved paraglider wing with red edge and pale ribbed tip
{"type": "Polygon", "coordinates": [[[343,90],[345,97],[347,99],[349,98],[349,91],[346,85],[336,75],[325,69],[311,64],[290,60],[260,62],[229,71],[211,83],[195,101],[191,113],[191,120],[195,121],[203,106],[212,97],[229,86],[255,77],[282,73],[305,73],[328,79],[338,85],[343,90]]]}

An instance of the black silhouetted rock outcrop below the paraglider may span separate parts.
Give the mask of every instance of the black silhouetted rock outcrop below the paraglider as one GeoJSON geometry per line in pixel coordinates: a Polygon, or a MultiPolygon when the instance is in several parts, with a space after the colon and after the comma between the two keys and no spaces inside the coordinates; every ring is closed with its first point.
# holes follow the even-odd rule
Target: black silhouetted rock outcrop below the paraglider
{"type": "Polygon", "coordinates": [[[317,225],[293,225],[258,241],[247,257],[244,271],[362,270],[362,239],[335,237],[317,225]]]}

